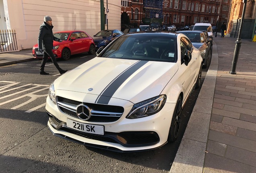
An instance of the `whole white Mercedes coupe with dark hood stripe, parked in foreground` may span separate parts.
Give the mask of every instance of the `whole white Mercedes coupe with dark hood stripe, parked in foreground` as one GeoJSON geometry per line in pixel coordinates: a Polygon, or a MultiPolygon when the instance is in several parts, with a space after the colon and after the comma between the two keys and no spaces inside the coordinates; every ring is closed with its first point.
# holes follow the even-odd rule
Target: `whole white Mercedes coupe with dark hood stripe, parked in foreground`
{"type": "Polygon", "coordinates": [[[50,85],[48,127],[91,147],[156,149],[177,139],[201,66],[200,51],[184,34],[124,34],[50,85]]]}

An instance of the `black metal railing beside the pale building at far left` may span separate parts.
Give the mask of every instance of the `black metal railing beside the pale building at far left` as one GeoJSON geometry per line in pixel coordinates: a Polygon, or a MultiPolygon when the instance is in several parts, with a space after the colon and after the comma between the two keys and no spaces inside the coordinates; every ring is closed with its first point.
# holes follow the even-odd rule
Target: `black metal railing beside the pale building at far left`
{"type": "Polygon", "coordinates": [[[0,52],[12,50],[18,50],[15,30],[0,30],[0,52]]]}

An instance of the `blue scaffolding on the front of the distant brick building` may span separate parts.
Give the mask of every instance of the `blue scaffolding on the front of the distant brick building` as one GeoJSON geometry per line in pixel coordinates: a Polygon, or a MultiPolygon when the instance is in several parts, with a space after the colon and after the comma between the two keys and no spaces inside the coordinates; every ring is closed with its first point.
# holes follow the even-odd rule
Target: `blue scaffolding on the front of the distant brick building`
{"type": "Polygon", "coordinates": [[[145,18],[163,18],[163,0],[144,0],[145,18]]]}

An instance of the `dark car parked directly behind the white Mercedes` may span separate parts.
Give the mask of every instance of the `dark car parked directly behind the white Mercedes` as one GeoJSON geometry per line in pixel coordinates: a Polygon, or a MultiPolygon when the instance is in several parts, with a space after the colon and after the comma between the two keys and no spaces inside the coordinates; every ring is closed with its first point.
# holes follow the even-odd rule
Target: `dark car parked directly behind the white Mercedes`
{"type": "Polygon", "coordinates": [[[190,41],[192,42],[193,46],[200,50],[203,63],[202,68],[207,67],[207,61],[209,59],[209,52],[211,48],[211,43],[208,42],[208,38],[206,38],[204,32],[202,31],[177,31],[177,33],[182,33],[186,35],[190,41]]]}

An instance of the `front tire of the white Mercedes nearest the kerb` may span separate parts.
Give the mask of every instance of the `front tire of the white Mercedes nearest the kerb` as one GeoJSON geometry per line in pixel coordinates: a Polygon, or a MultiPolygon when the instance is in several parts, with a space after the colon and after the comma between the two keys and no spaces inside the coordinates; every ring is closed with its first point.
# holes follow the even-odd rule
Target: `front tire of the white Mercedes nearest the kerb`
{"type": "Polygon", "coordinates": [[[181,111],[182,111],[182,98],[178,97],[173,116],[171,119],[171,127],[169,129],[168,142],[174,142],[177,140],[179,131],[180,131],[180,122],[181,122],[181,111]]]}

